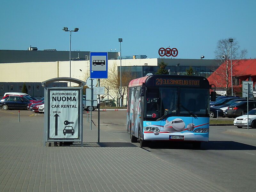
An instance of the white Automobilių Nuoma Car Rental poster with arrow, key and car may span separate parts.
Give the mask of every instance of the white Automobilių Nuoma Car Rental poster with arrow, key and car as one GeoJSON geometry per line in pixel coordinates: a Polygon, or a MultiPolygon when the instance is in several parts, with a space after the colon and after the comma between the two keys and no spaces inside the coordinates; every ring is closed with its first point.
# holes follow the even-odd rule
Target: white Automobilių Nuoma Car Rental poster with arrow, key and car
{"type": "Polygon", "coordinates": [[[79,137],[79,90],[49,91],[49,139],[79,137]]]}

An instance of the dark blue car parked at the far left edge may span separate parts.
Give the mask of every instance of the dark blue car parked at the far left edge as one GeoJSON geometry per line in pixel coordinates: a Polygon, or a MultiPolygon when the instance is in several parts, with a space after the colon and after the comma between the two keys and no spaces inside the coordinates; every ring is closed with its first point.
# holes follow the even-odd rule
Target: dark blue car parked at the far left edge
{"type": "Polygon", "coordinates": [[[8,109],[26,109],[30,101],[25,97],[10,96],[0,100],[0,108],[8,109]]]}

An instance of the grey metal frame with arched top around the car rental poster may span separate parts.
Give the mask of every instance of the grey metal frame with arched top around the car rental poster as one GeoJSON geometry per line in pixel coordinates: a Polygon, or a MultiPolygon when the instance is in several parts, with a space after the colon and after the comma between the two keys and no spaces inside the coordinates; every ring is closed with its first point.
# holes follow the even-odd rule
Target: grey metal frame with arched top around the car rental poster
{"type": "MultiPolygon", "coordinates": [[[[70,77],[58,77],[58,78],[52,78],[52,79],[48,79],[44,82],[42,82],[42,86],[44,87],[44,137],[43,137],[43,146],[46,146],[46,142],[77,142],[77,141],[81,141],[81,147],[83,147],[83,86],[85,85],[84,81],[81,81],[79,79],[74,79],[74,78],[70,78],[70,77]],[[51,87],[49,89],[51,90],[80,90],[80,119],[79,119],[79,127],[78,129],[80,130],[80,134],[78,135],[78,139],[49,139],[48,137],[48,128],[49,128],[49,108],[48,108],[48,97],[49,95],[47,95],[48,93],[48,87],[47,85],[52,83],[52,82],[57,82],[57,81],[67,81],[67,82],[73,82],[76,84],[79,84],[79,87],[51,87]]],[[[79,114],[78,114],[79,115],[79,114]]]]}

